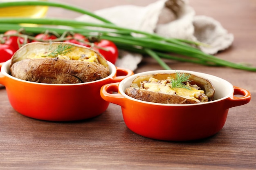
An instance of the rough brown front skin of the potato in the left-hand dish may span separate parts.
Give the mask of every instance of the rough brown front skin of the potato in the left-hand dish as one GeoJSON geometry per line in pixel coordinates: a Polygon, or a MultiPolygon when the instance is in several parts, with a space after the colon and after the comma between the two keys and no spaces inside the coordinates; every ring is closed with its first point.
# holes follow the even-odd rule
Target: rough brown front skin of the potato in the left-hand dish
{"type": "Polygon", "coordinates": [[[108,68],[102,64],[58,57],[23,59],[14,63],[10,72],[18,79],[50,84],[91,82],[109,75],[108,68]]]}

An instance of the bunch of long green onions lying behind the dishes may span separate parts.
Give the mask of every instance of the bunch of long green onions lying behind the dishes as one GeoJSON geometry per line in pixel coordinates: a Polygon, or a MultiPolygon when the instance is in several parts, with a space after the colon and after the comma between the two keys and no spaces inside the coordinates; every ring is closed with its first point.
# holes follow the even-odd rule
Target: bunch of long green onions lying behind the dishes
{"type": "Polygon", "coordinates": [[[155,33],[147,33],[145,31],[128,29],[117,26],[112,22],[95,15],[84,9],[72,7],[69,4],[49,1],[17,1],[17,2],[1,2],[1,7],[12,7],[22,5],[42,5],[50,7],[60,7],[63,9],[76,11],[81,14],[89,15],[101,23],[81,22],[76,20],[58,19],[58,18],[0,18],[0,32],[11,29],[24,28],[29,33],[42,33],[47,30],[55,31],[63,34],[67,28],[52,26],[68,26],[70,31],[81,33],[85,36],[101,35],[102,39],[114,42],[119,49],[131,52],[150,55],[164,69],[171,69],[161,58],[177,60],[180,62],[192,62],[206,66],[226,66],[247,71],[256,71],[255,67],[243,64],[237,64],[222,60],[213,55],[206,54],[200,49],[193,46],[205,45],[200,42],[192,42],[189,40],[180,40],[175,38],[165,38],[155,33]],[[20,26],[20,24],[38,24],[37,26],[20,26]],[[52,25],[52,26],[50,26],[52,25]],[[105,28],[105,30],[102,30],[105,28]],[[132,36],[136,35],[136,36],[132,36]],[[176,54],[173,56],[171,54],[176,54]]]}

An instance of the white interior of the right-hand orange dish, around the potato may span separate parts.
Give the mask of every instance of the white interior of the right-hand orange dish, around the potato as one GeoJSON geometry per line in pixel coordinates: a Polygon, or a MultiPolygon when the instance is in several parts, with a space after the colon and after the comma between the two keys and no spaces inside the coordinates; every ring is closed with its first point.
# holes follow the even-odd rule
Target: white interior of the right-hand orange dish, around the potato
{"type": "MultiPolygon", "coordinates": [[[[126,79],[122,80],[119,84],[119,91],[122,95],[124,95],[125,97],[127,97],[131,100],[136,100],[136,101],[147,103],[147,104],[157,104],[157,103],[144,102],[141,100],[134,99],[134,98],[126,95],[124,93],[124,91],[126,88],[128,88],[132,84],[133,79],[135,79],[137,76],[150,75],[150,74],[156,74],[156,73],[176,73],[176,71],[180,72],[180,73],[191,73],[193,75],[208,79],[215,87],[214,100],[211,102],[218,102],[222,99],[232,96],[234,93],[234,86],[220,77],[216,77],[216,76],[205,74],[205,73],[199,73],[199,72],[194,72],[194,71],[185,71],[185,70],[168,70],[168,71],[167,70],[159,70],[159,71],[147,71],[147,72],[143,72],[143,73],[138,73],[138,74],[132,75],[132,76],[127,77],[126,79]]],[[[209,103],[209,102],[207,102],[207,103],[209,103]]],[[[200,104],[207,104],[207,103],[200,103],[200,104]]],[[[172,105],[172,104],[157,104],[157,105],[172,105]]],[[[177,104],[173,104],[173,105],[178,106],[177,104]]],[[[191,105],[191,104],[185,104],[185,105],[191,105]]],[[[184,106],[184,104],[181,104],[180,106],[184,106]]]]}

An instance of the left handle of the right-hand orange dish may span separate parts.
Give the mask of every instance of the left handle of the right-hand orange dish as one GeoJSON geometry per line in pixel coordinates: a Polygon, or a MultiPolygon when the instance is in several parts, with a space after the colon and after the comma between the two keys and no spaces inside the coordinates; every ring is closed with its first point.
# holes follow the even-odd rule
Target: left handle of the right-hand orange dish
{"type": "Polygon", "coordinates": [[[101,87],[101,97],[107,102],[124,106],[124,100],[126,99],[123,95],[118,93],[119,82],[106,84],[101,87]],[[116,92],[116,93],[113,93],[116,92]]]}

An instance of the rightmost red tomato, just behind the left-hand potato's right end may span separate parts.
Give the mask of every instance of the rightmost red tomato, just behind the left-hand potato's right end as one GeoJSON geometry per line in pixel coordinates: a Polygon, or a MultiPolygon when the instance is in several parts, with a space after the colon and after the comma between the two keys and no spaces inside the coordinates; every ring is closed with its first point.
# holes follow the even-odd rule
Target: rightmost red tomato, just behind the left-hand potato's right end
{"type": "Polygon", "coordinates": [[[101,55],[103,55],[106,60],[108,60],[112,64],[116,63],[118,58],[118,49],[112,41],[100,40],[99,42],[94,42],[94,44],[104,49],[107,49],[108,51],[94,47],[94,49],[99,51],[99,53],[101,53],[101,55]]]}

